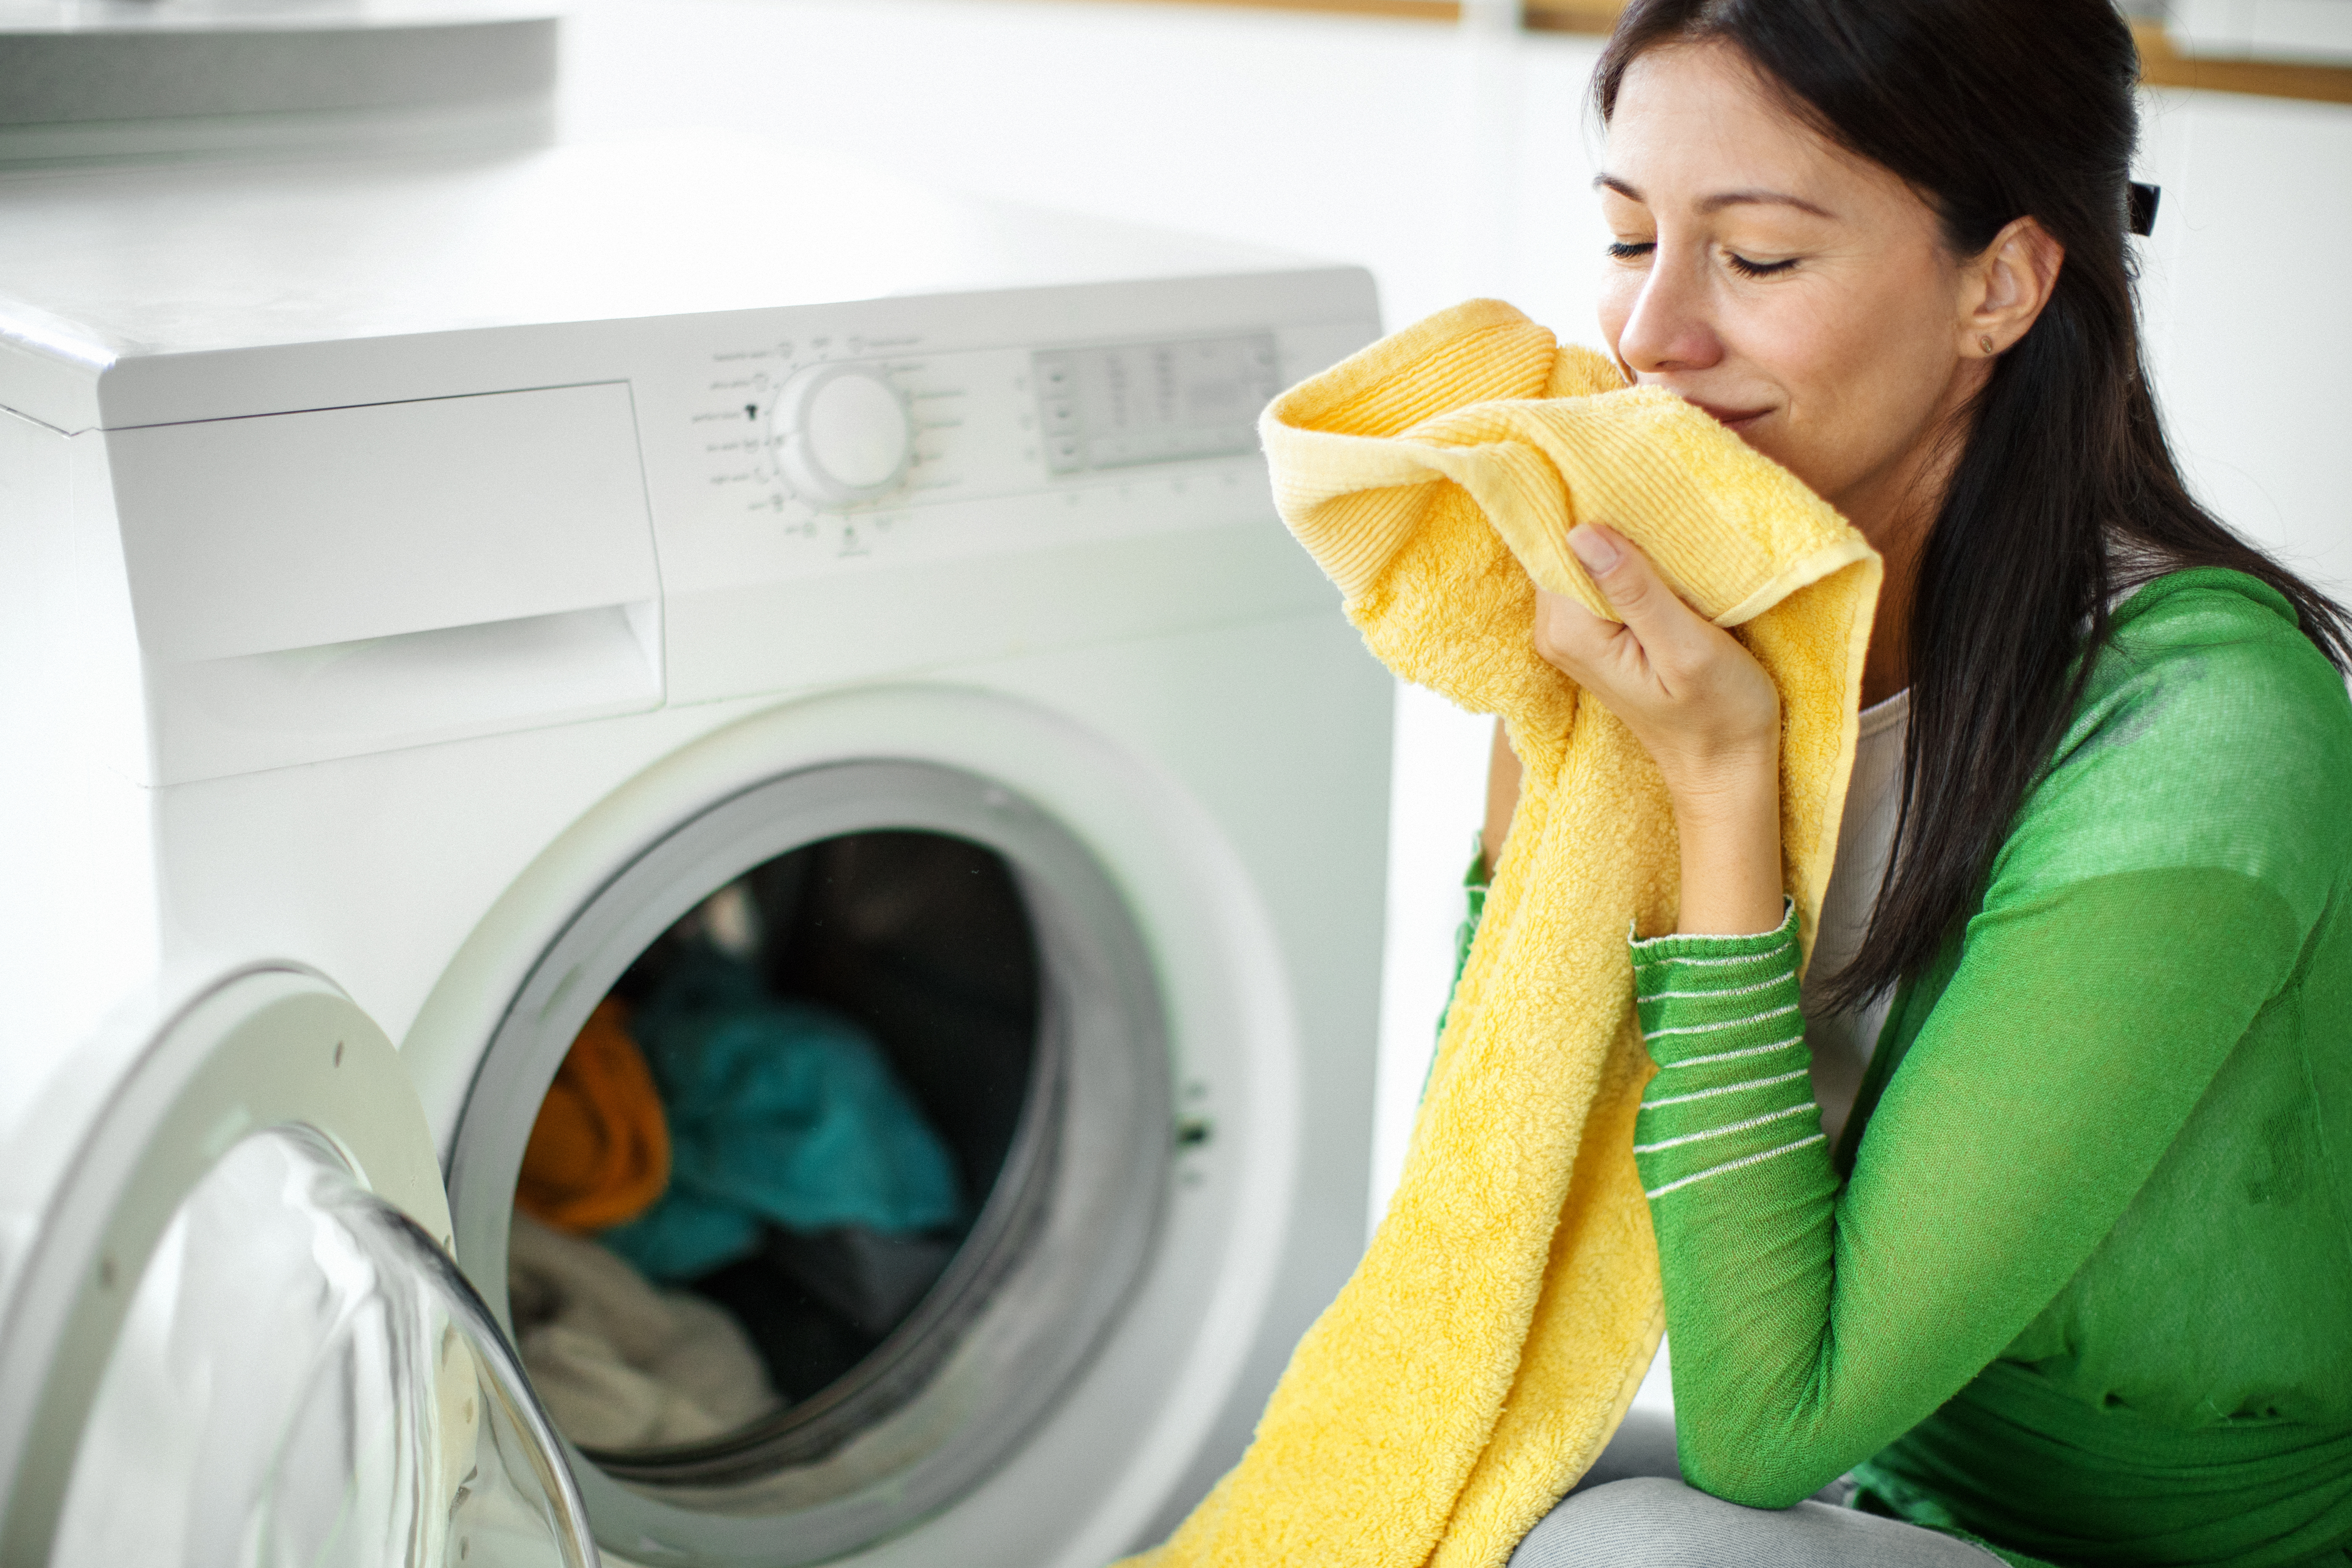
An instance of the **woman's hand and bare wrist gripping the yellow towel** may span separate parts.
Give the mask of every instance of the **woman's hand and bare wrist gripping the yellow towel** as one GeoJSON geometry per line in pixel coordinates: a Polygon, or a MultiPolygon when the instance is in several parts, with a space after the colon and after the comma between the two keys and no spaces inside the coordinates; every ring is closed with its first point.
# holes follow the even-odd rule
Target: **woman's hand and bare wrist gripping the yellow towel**
{"type": "Polygon", "coordinates": [[[1731,632],[1675,597],[1621,534],[1583,524],[1569,548],[1623,625],[1536,595],[1536,651],[1649,750],[1682,837],[1682,931],[1780,924],[1780,693],[1731,632]]]}

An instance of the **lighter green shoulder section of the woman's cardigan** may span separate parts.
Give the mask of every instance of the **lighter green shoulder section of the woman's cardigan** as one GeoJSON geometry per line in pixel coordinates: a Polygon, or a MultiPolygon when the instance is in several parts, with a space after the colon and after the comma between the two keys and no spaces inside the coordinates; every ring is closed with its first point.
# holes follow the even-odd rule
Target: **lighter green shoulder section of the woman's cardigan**
{"type": "Polygon", "coordinates": [[[2270,585],[2159,576],[2112,618],[2004,860],[2082,879],[2211,867],[2303,912],[2352,879],[2352,696],[2270,585]]]}

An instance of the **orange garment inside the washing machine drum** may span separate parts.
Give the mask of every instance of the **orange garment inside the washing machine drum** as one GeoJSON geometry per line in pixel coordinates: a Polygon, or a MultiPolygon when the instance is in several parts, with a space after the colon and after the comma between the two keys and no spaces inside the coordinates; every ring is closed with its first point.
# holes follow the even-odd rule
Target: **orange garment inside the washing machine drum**
{"type": "Polygon", "coordinates": [[[670,1185],[670,1124],[626,1025],[626,1001],[597,1001],[522,1150],[515,1208],[555,1229],[635,1220],[670,1185]]]}

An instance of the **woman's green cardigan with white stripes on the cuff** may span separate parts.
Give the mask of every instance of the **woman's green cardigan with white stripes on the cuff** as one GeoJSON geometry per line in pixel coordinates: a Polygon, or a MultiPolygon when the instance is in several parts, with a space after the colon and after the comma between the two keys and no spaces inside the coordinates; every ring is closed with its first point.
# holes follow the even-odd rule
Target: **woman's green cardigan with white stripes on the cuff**
{"type": "Polygon", "coordinates": [[[2013,1563],[2352,1563],[2352,703],[2286,599],[2114,637],[1830,1150],[1797,945],[1635,943],[1684,1476],[2013,1563]]]}

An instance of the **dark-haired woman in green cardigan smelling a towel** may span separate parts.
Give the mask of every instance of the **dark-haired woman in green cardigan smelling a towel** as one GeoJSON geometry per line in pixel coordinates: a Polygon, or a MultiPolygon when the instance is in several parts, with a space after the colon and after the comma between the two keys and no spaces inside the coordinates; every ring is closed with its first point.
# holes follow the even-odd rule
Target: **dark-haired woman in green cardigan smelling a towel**
{"type": "Polygon", "coordinates": [[[2110,0],[1635,0],[1602,56],[1609,346],[1886,588],[1802,992],[1771,682],[1604,527],[1623,625],[1538,604],[1682,839],[1679,1465],[1519,1568],[2352,1561],[2352,637],[2157,425],[2133,78],[2110,0]]]}

